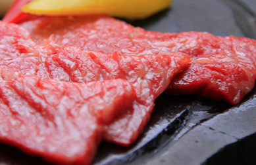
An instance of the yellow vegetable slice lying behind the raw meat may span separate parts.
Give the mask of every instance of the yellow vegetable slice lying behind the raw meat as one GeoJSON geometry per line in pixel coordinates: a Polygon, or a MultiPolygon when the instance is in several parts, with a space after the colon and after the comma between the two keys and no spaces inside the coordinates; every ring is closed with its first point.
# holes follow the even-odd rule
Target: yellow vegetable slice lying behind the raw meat
{"type": "Polygon", "coordinates": [[[35,0],[23,12],[46,16],[109,14],[120,18],[142,19],[168,9],[172,0],[35,0]]]}

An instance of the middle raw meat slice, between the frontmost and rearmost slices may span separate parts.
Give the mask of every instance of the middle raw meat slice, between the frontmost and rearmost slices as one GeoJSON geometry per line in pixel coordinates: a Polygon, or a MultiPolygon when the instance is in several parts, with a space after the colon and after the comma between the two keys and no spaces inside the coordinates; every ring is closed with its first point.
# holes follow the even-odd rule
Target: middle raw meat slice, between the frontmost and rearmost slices
{"type": "Polygon", "coordinates": [[[125,56],[83,52],[72,46],[49,56],[45,67],[49,77],[58,81],[91,82],[125,79],[136,90],[132,107],[115,118],[105,129],[104,139],[120,145],[130,145],[149,121],[154,101],[170,81],[188,65],[186,54],[125,56]]]}

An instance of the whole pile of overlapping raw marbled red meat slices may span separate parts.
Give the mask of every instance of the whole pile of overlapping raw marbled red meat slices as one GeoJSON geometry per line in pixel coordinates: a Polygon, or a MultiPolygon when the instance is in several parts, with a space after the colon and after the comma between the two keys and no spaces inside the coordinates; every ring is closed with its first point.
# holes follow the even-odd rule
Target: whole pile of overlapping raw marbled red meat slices
{"type": "Polygon", "coordinates": [[[255,84],[253,39],[145,31],[108,16],[20,26],[0,22],[0,140],[59,164],[90,164],[101,139],[130,145],[164,91],[236,104],[255,84]]]}

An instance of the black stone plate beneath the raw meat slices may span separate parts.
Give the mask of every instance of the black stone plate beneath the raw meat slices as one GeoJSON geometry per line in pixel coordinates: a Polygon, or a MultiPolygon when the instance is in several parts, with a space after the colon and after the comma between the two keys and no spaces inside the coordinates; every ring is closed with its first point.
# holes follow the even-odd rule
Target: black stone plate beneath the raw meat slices
{"type": "MultiPolygon", "coordinates": [[[[256,14],[238,0],[173,0],[170,9],[126,22],[151,31],[208,31],[256,39],[256,14]]],[[[93,164],[255,164],[256,88],[232,106],[199,96],[161,95],[130,147],[103,142],[93,164]]],[[[0,164],[46,165],[0,145],[0,164]]]]}

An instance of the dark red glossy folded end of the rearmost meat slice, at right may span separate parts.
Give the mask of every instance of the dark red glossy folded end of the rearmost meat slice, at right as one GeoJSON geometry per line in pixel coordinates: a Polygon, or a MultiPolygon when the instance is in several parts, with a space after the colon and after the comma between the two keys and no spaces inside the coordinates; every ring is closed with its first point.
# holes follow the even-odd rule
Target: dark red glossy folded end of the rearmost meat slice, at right
{"type": "Polygon", "coordinates": [[[192,63],[188,69],[176,75],[167,94],[198,94],[226,100],[230,104],[239,103],[251,91],[255,81],[242,67],[232,63],[192,63]]]}

